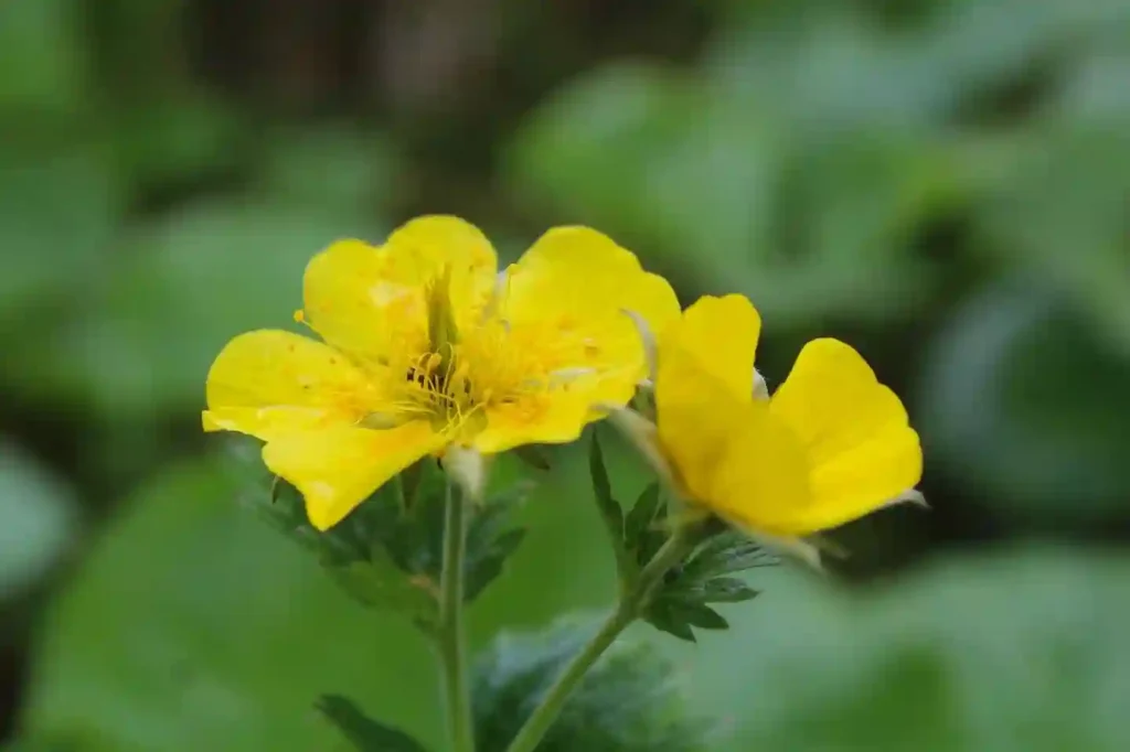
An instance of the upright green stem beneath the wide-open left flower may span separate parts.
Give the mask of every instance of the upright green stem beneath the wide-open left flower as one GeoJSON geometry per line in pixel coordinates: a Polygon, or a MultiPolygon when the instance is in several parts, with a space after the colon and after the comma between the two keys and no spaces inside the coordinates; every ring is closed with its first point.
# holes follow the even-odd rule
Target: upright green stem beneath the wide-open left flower
{"type": "Polygon", "coordinates": [[[463,558],[467,514],[461,493],[449,480],[443,526],[443,571],[440,575],[440,624],[436,639],[443,664],[447,725],[454,752],[475,752],[467,665],[463,656],[463,558]]]}

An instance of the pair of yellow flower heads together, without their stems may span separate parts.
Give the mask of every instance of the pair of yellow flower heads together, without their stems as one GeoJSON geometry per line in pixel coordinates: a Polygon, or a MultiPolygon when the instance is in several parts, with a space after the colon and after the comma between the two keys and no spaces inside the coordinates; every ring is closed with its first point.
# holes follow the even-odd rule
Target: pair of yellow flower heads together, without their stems
{"type": "Polygon", "coordinates": [[[770,395],[749,300],[680,311],[664,279],[589,228],[551,229],[501,272],[454,217],[380,246],[338,242],[310,262],[295,318],[320,341],[260,330],[224,348],[203,426],[263,440],[319,530],[425,456],[481,467],[606,417],[689,509],[800,552],[913,498],[921,475],[906,411],[851,347],[809,342],[770,395]]]}

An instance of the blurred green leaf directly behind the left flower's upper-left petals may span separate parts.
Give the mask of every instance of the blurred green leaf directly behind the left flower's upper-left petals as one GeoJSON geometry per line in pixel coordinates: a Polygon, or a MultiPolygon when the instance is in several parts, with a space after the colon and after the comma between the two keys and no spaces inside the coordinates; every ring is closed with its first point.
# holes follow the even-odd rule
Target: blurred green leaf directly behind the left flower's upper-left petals
{"type": "Polygon", "coordinates": [[[366,235],[294,207],[210,203],[132,238],[98,308],[53,343],[41,373],[105,412],[191,413],[208,367],[241,332],[293,326],[306,262],[366,235]]]}

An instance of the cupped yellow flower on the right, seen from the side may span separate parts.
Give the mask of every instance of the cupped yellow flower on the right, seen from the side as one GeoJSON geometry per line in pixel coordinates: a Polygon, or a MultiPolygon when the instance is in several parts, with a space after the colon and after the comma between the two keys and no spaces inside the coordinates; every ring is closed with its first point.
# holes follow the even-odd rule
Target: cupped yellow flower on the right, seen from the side
{"type": "Polygon", "coordinates": [[[693,505],[811,554],[802,539],[916,497],[922,451],[902,402],[851,347],[812,340],[755,394],[760,318],[704,297],[659,338],[655,425],[621,416],[693,505]],[[806,550],[807,549],[807,550],[806,550]]]}

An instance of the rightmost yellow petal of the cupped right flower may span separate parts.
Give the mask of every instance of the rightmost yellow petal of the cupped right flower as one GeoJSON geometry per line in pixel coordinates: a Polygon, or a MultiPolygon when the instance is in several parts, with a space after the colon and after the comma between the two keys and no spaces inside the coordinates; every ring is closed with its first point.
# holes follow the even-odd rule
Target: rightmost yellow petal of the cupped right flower
{"type": "Polygon", "coordinates": [[[906,410],[843,342],[806,344],[770,410],[798,437],[811,466],[814,500],[794,521],[796,532],[862,517],[921,479],[922,449],[906,410]]]}

